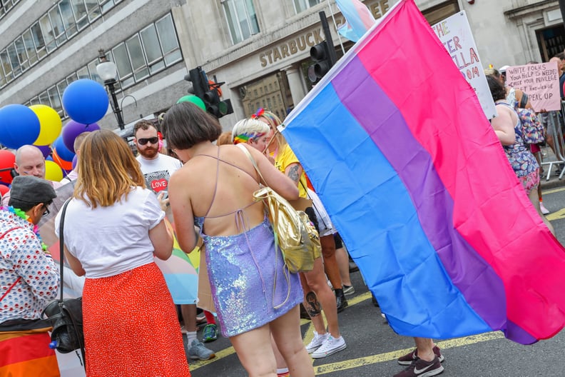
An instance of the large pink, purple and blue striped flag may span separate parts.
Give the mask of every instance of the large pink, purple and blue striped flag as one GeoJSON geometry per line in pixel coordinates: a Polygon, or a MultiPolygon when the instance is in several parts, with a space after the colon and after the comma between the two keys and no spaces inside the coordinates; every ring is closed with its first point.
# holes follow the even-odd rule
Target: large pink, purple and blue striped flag
{"type": "Polygon", "coordinates": [[[413,0],[400,0],[292,111],[283,134],[397,333],[565,321],[565,253],[477,96],[413,0]]]}

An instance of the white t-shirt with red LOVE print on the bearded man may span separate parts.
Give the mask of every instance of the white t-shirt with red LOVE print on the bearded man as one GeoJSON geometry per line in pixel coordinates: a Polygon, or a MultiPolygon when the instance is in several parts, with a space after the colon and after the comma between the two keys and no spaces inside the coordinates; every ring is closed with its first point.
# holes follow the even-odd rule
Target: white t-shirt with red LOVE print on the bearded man
{"type": "Polygon", "coordinates": [[[136,157],[141,167],[141,172],[146,179],[147,188],[154,193],[166,191],[170,176],[183,167],[183,164],[171,156],[158,154],[156,159],[148,160],[139,155],[136,157]]]}

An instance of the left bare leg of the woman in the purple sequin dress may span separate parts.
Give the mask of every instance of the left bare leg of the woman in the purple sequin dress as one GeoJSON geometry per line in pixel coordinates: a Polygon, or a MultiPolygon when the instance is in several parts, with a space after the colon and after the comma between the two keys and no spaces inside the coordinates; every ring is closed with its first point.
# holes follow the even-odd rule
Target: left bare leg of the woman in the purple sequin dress
{"type": "MultiPolygon", "coordinates": [[[[298,314],[297,314],[298,318],[298,314]]],[[[297,326],[300,332],[300,325],[297,326]]],[[[250,377],[276,377],[277,361],[270,347],[269,325],[232,336],[230,341],[250,377]]],[[[302,347],[303,348],[303,347],[302,347]]],[[[305,350],[306,352],[306,350],[305,350]]]]}

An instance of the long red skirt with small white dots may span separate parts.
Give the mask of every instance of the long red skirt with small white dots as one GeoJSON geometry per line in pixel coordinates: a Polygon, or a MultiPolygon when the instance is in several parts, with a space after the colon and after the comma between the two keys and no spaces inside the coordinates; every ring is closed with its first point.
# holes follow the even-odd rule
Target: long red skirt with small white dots
{"type": "Polygon", "coordinates": [[[175,305],[155,263],[83,291],[88,377],[190,376],[175,305]]]}

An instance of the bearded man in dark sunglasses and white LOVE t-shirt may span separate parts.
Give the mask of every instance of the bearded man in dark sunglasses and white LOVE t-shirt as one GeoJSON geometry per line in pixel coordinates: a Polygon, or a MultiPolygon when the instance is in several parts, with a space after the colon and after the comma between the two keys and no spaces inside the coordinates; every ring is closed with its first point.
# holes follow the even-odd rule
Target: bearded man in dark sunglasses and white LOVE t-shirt
{"type": "MultiPolygon", "coordinates": [[[[133,136],[138,150],[136,159],[139,161],[143,176],[145,176],[147,188],[157,194],[161,208],[163,211],[167,211],[169,201],[166,197],[168,181],[170,176],[183,164],[178,159],[159,153],[161,139],[155,124],[151,121],[138,121],[133,126],[133,136]]],[[[215,353],[206,348],[196,337],[196,306],[185,303],[177,304],[180,304],[180,311],[185,323],[188,356],[200,360],[213,358],[215,353]]]]}

